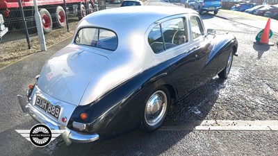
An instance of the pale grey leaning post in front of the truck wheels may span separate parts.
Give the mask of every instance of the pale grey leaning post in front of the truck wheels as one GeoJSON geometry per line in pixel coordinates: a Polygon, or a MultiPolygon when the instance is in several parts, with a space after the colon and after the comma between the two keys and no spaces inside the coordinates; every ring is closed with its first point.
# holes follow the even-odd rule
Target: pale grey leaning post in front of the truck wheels
{"type": "Polygon", "coordinates": [[[38,36],[39,36],[39,41],[40,41],[40,50],[47,51],[47,46],[45,44],[45,39],[44,39],[44,32],[42,30],[42,19],[40,17],[40,12],[38,9],[38,3],[37,3],[37,0],[33,0],[33,2],[34,2],[34,8],[35,8],[35,25],[37,26],[37,30],[38,30],[38,36]]]}

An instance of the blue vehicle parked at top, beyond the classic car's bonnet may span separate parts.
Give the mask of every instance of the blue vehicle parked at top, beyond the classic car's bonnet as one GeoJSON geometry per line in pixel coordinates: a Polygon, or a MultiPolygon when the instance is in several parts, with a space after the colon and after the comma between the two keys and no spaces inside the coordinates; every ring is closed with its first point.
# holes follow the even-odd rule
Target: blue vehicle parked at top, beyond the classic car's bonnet
{"type": "Polygon", "coordinates": [[[202,12],[213,12],[214,15],[218,13],[222,2],[220,0],[187,0],[186,8],[192,8],[201,14],[202,12]]]}

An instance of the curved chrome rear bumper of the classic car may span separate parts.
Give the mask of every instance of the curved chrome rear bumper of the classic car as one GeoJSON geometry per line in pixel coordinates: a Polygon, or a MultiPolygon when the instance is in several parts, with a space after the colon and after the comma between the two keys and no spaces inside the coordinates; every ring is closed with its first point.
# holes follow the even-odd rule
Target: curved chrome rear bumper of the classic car
{"type": "Polygon", "coordinates": [[[31,103],[28,103],[28,101],[26,101],[23,96],[17,95],[17,99],[19,101],[19,105],[22,107],[22,111],[24,113],[28,112],[28,114],[30,114],[33,119],[35,119],[39,123],[47,125],[51,130],[65,130],[65,132],[63,132],[62,134],[62,137],[66,145],[70,145],[72,142],[89,143],[99,139],[99,135],[97,134],[85,134],[76,132],[74,130],[70,130],[64,125],[59,125],[58,123],[49,119],[47,116],[35,109],[35,107],[33,107],[31,103]]]}

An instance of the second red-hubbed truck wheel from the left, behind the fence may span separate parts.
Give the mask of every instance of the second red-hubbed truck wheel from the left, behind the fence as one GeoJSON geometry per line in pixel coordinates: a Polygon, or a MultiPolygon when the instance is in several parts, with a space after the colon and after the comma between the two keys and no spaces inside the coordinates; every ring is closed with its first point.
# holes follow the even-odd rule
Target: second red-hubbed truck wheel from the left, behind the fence
{"type": "Polygon", "coordinates": [[[65,21],[65,10],[63,9],[63,7],[57,6],[53,21],[55,27],[63,28],[66,26],[67,23],[65,21]]]}

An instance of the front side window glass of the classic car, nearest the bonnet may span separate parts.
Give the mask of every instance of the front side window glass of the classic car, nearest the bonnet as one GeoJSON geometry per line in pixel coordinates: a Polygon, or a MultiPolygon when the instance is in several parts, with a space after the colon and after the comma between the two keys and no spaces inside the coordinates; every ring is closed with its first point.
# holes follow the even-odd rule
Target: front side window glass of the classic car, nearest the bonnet
{"type": "Polygon", "coordinates": [[[190,17],[190,26],[193,39],[204,35],[204,28],[201,20],[197,16],[190,17]]]}

